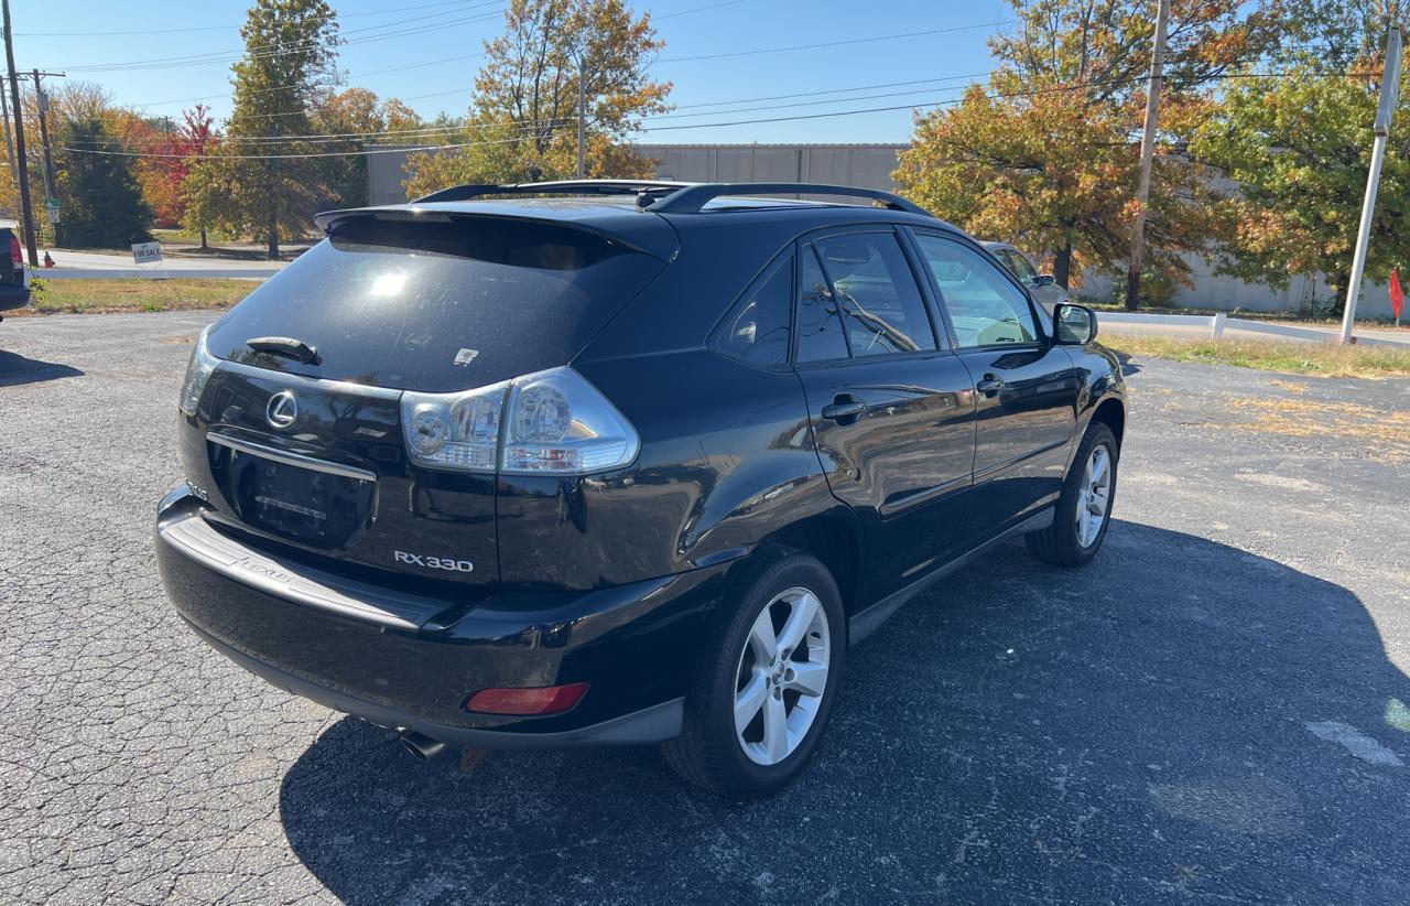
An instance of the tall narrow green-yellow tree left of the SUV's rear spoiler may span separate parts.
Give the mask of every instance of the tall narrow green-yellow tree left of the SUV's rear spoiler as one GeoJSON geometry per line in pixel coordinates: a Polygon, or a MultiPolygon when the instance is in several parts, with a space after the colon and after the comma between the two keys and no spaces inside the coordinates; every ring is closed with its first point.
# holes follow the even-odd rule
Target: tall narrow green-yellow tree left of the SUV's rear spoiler
{"type": "Polygon", "coordinates": [[[326,0],[255,0],[240,34],[226,140],[192,168],[188,199],[202,223],[261,234],[278,258],[279,241],[306,236],[331,196],[324,158],[300,157],[326,150],[300,137],[313,131],[319,87],[337,78],[338,27],[326,0]]]}

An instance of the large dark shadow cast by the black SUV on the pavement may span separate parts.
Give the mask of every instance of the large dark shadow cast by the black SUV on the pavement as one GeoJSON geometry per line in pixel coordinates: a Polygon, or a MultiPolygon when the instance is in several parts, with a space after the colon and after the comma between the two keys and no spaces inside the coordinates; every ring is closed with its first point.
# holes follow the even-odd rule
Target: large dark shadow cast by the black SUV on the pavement
{"type": "Polygon", "coordinates": [[[1114,522],[1086,569],[1005,545],[850,653],[773,800],[654,749],[419,762],[347,718],[281,817],[340,899],[1410,902],[1410,683],[1345,588],[1114,522]]]}

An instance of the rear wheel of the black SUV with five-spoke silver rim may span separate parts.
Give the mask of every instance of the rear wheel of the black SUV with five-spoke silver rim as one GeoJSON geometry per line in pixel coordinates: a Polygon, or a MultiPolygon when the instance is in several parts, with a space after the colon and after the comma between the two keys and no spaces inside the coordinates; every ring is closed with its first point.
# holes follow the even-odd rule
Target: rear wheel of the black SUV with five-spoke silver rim
{"type": "Polygon", "coordinates": [[[739,605],[705,642],[682,732],[661,752],[691,783],[743,800],[777,793],[808,762],[847,636],[832,574],[805,553],[752,570],[736,588],[739,605]]]}

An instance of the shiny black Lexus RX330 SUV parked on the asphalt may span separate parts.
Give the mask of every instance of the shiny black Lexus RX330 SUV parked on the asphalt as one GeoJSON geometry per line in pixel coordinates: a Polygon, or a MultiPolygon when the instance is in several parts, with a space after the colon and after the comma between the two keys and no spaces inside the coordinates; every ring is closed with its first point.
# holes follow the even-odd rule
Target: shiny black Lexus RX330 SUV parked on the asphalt
{"type": "Polygon", "coordinates": [[[319,222],[196,344],[157,552],[216,651],[423,756],[661,742],[764,796],[907,598],[1017,535],[1101,545],[1096,316],[897,196],[580,181],[319,222]]]}

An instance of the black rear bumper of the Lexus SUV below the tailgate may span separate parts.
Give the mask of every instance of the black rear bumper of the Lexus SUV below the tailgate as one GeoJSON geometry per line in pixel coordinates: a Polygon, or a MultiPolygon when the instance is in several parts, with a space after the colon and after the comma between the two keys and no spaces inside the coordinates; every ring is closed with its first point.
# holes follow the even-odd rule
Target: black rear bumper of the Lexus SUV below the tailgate
{"type": "Polygon", "coordinates": [[[162,583],[212,648],[266,682],[384,727],[462,747],[560,748],[680,734],[719,564],[582,593],[467,603],[341,580],[244,546],[168,495],[157,522],[162,583]],[[193,522],[195,521],[195,522],[193,522]],[[587,682],[571,711],[471,714],[479,689],[587,682]]]}

